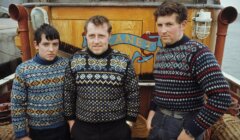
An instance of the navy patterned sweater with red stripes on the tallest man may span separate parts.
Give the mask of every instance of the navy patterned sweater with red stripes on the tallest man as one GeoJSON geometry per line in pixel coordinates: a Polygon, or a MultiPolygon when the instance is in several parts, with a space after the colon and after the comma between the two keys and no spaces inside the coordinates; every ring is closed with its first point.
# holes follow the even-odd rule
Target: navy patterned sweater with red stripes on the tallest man
{"type": "Polygon", "coordinates": [[[199,111],[184,124],[193,136],[198,136],[228,109],[229,86],[210,50],[184,36],[157,53],[154,103],[173,111],[199,111]],[[207,103],[204,104],[204,94],[207,103]]]}

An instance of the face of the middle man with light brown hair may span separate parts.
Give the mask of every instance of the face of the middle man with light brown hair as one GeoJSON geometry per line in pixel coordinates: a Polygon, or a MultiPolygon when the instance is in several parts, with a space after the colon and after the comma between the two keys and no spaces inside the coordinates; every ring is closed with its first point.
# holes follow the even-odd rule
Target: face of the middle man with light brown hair
{"type": "Polygon", "coordinates": [[[88,48],[93,54],[101,55],[108,49],[110,36],[107,24],[96,26],[88,23],[86,38],[88,48]]]}

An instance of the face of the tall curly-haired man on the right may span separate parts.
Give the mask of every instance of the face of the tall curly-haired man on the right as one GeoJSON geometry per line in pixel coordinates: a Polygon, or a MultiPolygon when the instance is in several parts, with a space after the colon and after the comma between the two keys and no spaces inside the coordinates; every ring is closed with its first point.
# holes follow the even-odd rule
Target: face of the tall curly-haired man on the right
{"type": "Polygon", "coordinates": [[[183,36],[186,21],[182,23],[177,22],[177,14],[170,16],[160,16],[157,18],[157,31],[163,41],[167,45],[174,44],[183,36]]]}

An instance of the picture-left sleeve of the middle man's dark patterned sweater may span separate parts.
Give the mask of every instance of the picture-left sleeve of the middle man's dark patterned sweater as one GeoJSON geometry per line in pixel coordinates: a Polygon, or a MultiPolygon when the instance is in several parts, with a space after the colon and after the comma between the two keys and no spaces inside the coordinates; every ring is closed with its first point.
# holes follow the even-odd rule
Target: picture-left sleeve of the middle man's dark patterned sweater
{"type": "Polygon", "coordinates": [[[76,86],[75,78],[71,70],[71,61],[65,70],[64,78],[64,114],[66,120],[76,118],[76,86]]]}

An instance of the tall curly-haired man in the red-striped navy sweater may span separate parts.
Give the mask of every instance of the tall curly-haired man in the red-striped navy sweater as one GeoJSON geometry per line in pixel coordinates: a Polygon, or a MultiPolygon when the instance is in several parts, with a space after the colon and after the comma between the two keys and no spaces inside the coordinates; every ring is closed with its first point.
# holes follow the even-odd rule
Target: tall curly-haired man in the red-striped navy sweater
{"type": "Polygon", "coordinates": [[[202,140],[203,132],[228,109],[229,86],[208,47],[184,35],[184,5],[163,2],[154,16],[165,47],[154,65],[149,140],[202,140]]]}

